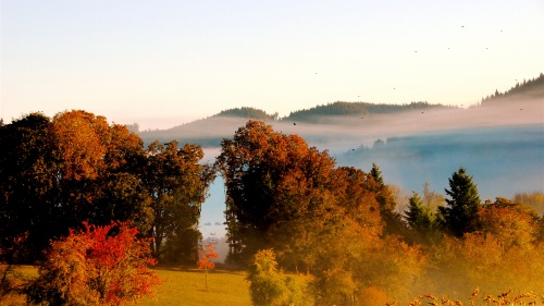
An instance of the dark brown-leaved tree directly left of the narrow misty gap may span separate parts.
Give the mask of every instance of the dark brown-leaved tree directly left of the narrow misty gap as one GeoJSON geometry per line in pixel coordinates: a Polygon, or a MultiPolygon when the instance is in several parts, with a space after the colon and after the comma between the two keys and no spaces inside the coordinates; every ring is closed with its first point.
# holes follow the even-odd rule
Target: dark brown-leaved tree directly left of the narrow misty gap
{"type": "Polygon", "coordinates": [[[211,169],[199,163],[202,157],[199,146],[180,148],[175,140],[154,142],[147,149],[141,180],[151,197],[148,235],[153,238],[154,258],[173,262],[198,258],[198,219],[213,179],[211,169]]]}

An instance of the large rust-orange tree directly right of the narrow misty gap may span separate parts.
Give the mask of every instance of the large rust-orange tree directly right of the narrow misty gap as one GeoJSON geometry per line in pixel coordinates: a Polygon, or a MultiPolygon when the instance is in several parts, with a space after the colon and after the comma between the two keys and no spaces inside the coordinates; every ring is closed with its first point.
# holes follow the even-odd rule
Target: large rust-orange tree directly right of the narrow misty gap
{"type": "Polygon", "coordinates": [[[269,247],[271,225],[292,227],[308,211],[324,212],[333,205],[336,191],[329,173],[334,164],[326,151],[263,122],[248,121],[233,139],[224,139],[215,167],[225,179],[230,258],[243,261],[269,247]]]}

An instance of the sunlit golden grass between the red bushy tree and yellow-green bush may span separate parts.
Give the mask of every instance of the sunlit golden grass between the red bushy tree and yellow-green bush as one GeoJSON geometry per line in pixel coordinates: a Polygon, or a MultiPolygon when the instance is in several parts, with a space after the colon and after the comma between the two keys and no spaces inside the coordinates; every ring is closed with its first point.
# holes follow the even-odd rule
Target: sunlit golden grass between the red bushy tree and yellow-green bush
{"type": "Polygon", "coordinates": [[[138,305],[251,305],[249,282],[244,271],[211,270],[208,272],[208,291],[203,270],[194,268],[154,269],[164,280],[152,297],[141,299],[138,305]]]}

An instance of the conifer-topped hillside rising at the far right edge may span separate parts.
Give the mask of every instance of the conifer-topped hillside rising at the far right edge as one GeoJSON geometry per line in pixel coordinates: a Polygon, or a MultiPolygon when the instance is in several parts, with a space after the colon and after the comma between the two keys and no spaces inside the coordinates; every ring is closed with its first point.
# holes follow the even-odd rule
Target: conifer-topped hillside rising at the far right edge
{"type": "Polygon", "coordinates": [[[539,77],[529,81],[523,79],[523,83],[516,83],[516,86],[505,93],[495,90],[495,94],[482,98],[481,106],[492,106],[519,98],[544,99],[544,74],[541,73],[539,77]]]}

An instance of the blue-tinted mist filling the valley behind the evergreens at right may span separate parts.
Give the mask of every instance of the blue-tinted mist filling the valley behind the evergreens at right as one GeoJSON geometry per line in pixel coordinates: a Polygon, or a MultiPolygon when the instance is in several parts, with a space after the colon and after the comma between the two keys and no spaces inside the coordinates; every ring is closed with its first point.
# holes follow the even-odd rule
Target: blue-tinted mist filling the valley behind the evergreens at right
{"type": "Polygon", "coordinates": [[[543,125],[473,127],[390,137],[336,156],[338,164],[370,169],[376,162],[388,184],[444,193],[459,167],[473,175],[482,199],[544,188],[543,125]]]}

